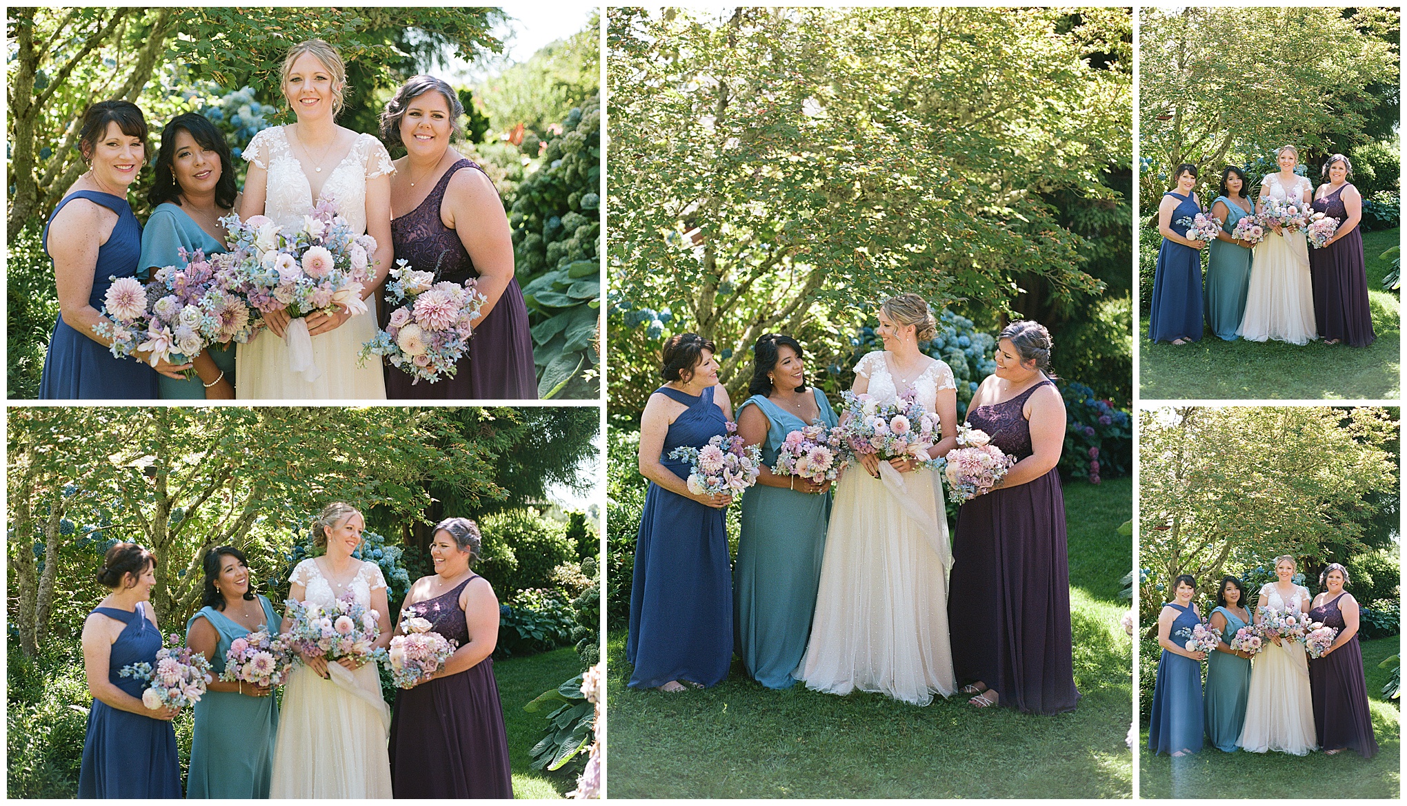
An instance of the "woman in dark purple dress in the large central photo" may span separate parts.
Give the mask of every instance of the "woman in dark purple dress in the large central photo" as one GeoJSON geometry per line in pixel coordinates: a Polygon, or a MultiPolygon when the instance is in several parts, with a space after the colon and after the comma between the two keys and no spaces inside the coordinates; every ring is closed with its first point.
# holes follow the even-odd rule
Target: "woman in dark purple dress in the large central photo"
{"type": "Polygon", "coordinates": [[[953,671],[972,705],[1074,711],[1069,562],[1059,463],[1065,403],[1051,382],[1051,337],[1034,322],[1002,330],[996,374],[968,424],[1017,459],[1000,487],[962,504],[953,539],[953,671]]]}

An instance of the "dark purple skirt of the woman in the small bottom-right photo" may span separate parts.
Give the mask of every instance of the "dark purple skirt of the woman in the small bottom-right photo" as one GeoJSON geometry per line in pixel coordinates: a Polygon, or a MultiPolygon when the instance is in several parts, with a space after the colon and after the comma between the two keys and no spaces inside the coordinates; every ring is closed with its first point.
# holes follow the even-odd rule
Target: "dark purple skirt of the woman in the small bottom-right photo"
{"type": "Polygon", "coordinates": [[[1310,659],[1310,696],[1314,699],[1314,734],[1320,747],[1348,747],[1363,758],[1377,754],[1373,715],[1368,709],[1368,682],[1363,680],[1363,650],[1356,635],[1328,657],[1310,659]]]}

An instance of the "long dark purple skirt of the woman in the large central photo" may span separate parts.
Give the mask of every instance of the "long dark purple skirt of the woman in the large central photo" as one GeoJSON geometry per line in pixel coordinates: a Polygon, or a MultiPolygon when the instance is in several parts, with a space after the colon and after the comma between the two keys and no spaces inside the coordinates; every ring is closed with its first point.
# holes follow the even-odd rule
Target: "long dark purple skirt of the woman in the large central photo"
{"type": "Polygon", "coordinates": [[[962,504],[948,630],[958,684],[982,681],[1027,713],[1074,711],[1069,560],[1059,473],[962,504]]]}

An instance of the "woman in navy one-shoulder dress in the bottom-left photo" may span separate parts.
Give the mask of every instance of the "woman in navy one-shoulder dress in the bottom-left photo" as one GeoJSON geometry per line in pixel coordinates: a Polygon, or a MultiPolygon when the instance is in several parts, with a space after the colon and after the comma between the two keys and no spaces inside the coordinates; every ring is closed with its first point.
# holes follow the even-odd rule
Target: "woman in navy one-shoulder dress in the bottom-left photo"
{"type": "Polygon", "coordinates": [[[136,543],[107,550],[98,583],[111,593],[83,622],[83,670],[93,708],[83,739],[79,798],[180,798],[177,709],[142,705],[146,682],[120,677],[124,666],[156,664],[162,632],[152,615],[155,560],[136,543]]]}

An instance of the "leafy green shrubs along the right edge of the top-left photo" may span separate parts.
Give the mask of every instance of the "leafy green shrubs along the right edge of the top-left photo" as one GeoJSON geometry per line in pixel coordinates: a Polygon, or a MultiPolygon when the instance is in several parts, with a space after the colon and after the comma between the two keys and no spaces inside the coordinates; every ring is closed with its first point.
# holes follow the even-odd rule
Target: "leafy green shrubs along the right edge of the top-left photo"
{"type": "MultiPolygon", "coordinates": [[[[526,145],[526,143],[525,143],[526,145]]],[[[601,310],[601,104],[571,110],[508,212],[540,397],[595,397],[601,310]]]]}

